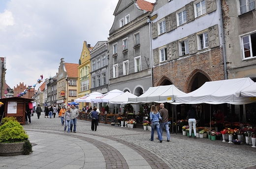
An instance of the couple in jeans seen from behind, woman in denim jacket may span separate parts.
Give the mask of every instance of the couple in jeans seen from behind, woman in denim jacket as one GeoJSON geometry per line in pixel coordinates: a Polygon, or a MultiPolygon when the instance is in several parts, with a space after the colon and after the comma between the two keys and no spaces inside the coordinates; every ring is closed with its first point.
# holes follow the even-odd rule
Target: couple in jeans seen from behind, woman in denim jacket
{"type": "Polygon", "coordinates": [[[151,139],[149,141],[154,141],[154,132],[155,128],[158,132],[157,139],[160,140],[160,143],[162,143],[162,129],[163,126],[166,131],[167,136],[167,142],[170,141],[170,132],[169,132],[169,125],[168,125],[168,110],[164,108],[164,104],[160,104],[160,111],[158,112],[157,107],[155,105],[151,106],[151,112],[150,112],[150,121],[151,121],[151,139]],[[161,121],[160,121],[161,120],[161,121]],[[160,122],[159,122],[160,121],[160,122]]]}

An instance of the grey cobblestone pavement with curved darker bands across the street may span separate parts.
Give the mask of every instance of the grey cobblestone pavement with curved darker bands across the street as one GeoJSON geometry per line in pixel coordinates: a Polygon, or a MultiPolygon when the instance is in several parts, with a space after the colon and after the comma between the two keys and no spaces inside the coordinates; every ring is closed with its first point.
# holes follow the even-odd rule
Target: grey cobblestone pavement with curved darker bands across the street
{"type": "Polygon", "coordinates": [[[150,142],[151,132],[141,124],[131,129],[99,123],[97,131],[92,131],[90,121],[78,120],[77,133],[64,133],[58,116],[41,115],[40,119],[33,116],[24,128],[34,144],[33,152],[0,157],[0,169],[256,169],[252,145],[193,139],[181,133],[171,134],[166,142],[164,132],[162,143],[157,139],[150,142]],[[67,160],[61,161],[61,157],[67,160]],[[13,160],[25,158],[41,163],[11,166],[13,160]]]}

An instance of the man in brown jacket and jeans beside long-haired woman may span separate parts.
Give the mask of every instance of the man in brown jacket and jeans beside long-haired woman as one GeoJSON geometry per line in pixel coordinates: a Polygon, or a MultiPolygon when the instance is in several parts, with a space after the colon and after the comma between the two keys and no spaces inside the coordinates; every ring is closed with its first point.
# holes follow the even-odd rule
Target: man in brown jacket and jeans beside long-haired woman
{"type": "MultiPolygon", "coordinates": [[[[164,108],[164,104],[161,103],[160,104],[160,116],[162,117],[162,120],[160,121],[160,134],[162,135],[162,129],[163,126],[165,128],[166,131],[166,136],[167,136],[167,142],[170,141],[170,132],[169,132],[169,125],[168,125],[168,110],[164,108]]],[[[158,138],[157,138],[158,139],[158,138]]]]}

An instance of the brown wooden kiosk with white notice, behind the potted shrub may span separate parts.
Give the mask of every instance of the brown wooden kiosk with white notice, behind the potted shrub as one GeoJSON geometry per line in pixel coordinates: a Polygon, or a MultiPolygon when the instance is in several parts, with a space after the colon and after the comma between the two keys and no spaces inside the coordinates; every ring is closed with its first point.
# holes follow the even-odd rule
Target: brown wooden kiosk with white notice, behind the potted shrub
{"type": "Polygon", "coordinates": [[[22,125],[25,125],[26,103],[34,99],[23,97],[0,98],[3,105],[0,107],[0,120],[4,117],[16,117],[22,125]]]}

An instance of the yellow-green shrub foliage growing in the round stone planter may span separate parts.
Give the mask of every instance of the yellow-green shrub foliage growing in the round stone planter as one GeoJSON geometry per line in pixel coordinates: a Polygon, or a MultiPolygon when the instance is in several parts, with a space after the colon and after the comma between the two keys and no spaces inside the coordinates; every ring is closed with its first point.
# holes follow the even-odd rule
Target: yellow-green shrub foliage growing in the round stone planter
{"type": "Polygon", "coordinates": [[[15,143],[28,140],[29,135],[18,121],[8,121],[0,126],[0,143],[15,143]]]}

